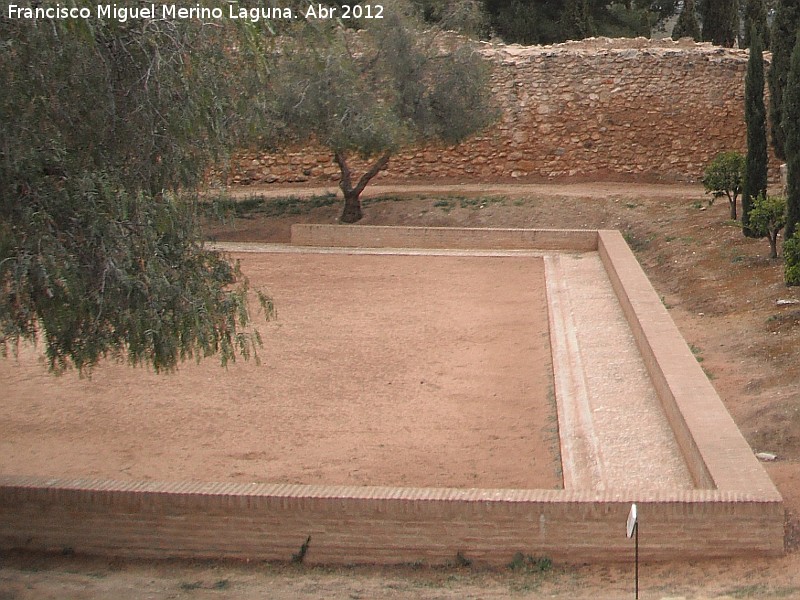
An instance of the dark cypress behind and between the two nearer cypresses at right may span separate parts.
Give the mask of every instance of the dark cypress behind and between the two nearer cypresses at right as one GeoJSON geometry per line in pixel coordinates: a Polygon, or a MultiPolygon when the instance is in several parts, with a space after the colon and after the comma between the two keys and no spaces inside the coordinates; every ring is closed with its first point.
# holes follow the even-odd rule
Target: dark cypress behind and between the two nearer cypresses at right
{"type": "Polygon", "coordinates": [[[769,69],[769,119],[772,147],[775,155],[785,159],[783,120],[783,90],[789,75],[789,62],[797,30],[800,28],[800,0],[780,0],[770,32],[772,64],[769,69]]]}

